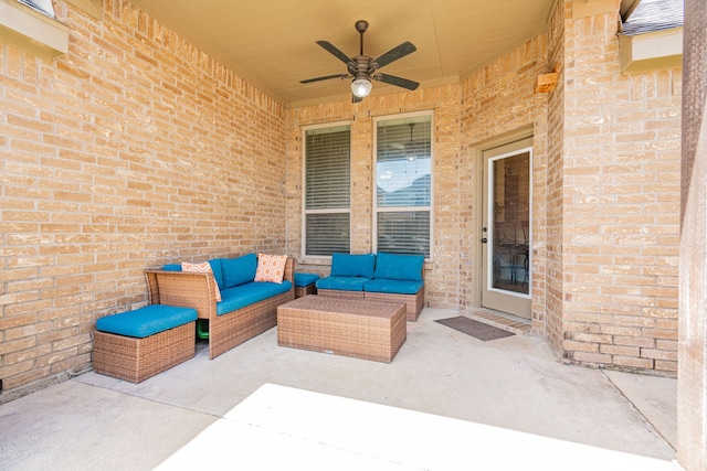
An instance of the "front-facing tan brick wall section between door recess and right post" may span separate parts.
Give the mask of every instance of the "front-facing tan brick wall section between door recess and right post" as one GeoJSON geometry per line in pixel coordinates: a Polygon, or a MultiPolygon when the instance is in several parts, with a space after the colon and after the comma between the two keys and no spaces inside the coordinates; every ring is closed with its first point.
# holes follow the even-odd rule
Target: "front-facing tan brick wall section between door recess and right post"
{"type": "Polygon", "coordinates": [[[564,21],[562,351],[674,372],[682,77],[621,75],[616,21],[564,21]]]}

